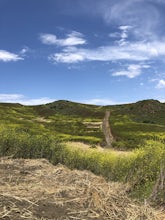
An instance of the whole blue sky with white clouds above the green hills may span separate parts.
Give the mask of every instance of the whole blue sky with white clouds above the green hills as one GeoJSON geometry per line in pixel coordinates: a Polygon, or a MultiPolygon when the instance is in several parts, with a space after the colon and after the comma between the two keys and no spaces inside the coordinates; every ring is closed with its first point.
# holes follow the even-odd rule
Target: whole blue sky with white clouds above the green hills
{"type": "Polygon", "coordinates": [[[164,0],[1,0],[0,102],[165,102],[164,0]]]}

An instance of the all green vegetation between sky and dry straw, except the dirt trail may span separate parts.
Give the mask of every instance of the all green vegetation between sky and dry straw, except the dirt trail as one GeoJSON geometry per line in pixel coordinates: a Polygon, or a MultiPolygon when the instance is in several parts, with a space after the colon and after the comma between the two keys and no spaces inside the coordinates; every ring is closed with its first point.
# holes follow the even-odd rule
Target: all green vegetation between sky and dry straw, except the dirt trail
{"type": "Polygon", "coordinates": [[[157,186],[165,178],[165,104],[154,100],[106,107],[68,101],[0,104],[0,115],[0,156],[44,157],[53,164],[88,169],[129,183],[133,197],[165,204],[164,186],[157,186]],[[107,109],[113,147],[129,151],[126,154],[97,149],[105,142],[101,123],[107,109]],[[91,147],[76,148],[65,144],[68,141],[91,147]]]}

